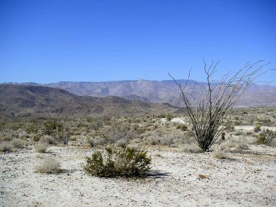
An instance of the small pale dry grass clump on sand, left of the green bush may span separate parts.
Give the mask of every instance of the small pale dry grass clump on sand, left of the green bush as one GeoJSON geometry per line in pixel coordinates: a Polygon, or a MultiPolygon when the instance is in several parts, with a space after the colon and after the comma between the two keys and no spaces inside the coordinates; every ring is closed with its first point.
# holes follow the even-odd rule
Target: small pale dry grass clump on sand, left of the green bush
{"type": "Polygon", "coordinates": [[[43,160],[39,166],[34,169],[34,172],[45,173],[45,174],[56,174],[61,172],[61,164],[54,157],[47,157],[43,160]]]}

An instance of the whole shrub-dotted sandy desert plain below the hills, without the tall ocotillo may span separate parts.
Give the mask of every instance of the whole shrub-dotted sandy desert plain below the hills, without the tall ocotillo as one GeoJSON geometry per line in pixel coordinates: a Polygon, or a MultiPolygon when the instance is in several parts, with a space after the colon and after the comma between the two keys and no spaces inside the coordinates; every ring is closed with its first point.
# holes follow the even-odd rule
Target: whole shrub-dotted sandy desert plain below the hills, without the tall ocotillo
{"type": "Polygon", "coordinates": [[[224,135],[207,152],[186,130],[189,121],[185,114],[167,117],[2,121],[2,204],[118,206],[129,196],[130,206],[177,206],[180,201],[213,206],[217,199],[225,206],[276,204],[274,107],[231,110],[224,120],[224,135]],[[124,178],[132,176],[135,179],[124,178]],[[43,188],[41,182],[49,187],[43,188]],[[201,185],[210,189],[204,191],[204,197],[213,195],[204,203],[195,193],[201,185]],[[17,190],[17,186],[24,190],[17,190]],[[33,189],[55,197],[55,203],[33,196],[33,189]],[[70,199],[52,194],[56,190],[70,199]],[[164,196],[156,197],[159,193],[164,196]],[[176,195],[177,199],[170,200],[176,195]]]}

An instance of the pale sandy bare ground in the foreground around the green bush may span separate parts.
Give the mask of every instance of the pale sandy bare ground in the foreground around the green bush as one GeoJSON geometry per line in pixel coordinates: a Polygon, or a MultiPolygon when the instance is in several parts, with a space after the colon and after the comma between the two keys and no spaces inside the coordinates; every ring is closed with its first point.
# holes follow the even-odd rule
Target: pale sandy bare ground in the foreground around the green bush
{"type": "Polygon", "coordinates": [[[92,149],[52,146],[44,154],[32,148],[2,154],[0,206],[276,206],[276,148],[252,146],[230,160],[175,148],[149,153],[152,176],[144,179],[89,177],[82,169],[92,149]],[[35,173],[48,156],[61,160],[66,171],[35,173]]]}

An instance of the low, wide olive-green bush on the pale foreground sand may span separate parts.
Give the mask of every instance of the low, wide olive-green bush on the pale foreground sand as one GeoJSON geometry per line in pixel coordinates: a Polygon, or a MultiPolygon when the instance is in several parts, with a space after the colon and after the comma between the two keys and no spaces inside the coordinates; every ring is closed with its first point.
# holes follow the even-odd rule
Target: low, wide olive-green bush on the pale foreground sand
{"type": "Polygon", "coordinates": [[[146,151],[135,148],[106,148],[104,159],[100,151],[86,158],[85,172],[98,177],[136,177],[150,170],[151,159],[146,151]]]}

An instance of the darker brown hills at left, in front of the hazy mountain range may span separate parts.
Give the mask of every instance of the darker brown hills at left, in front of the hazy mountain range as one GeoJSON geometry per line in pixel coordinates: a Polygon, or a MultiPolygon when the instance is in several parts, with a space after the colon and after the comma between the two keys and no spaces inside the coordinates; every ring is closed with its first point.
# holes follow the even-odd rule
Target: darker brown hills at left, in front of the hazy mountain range
{"type": "Polygon", "coordinates": [[[67,90],[46,86],[0,84],[0,119],[158,115],[175,112],[181,110],[168,103],[146,103],[115,96],[78,96],[67,90]]]}

